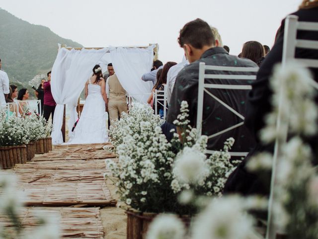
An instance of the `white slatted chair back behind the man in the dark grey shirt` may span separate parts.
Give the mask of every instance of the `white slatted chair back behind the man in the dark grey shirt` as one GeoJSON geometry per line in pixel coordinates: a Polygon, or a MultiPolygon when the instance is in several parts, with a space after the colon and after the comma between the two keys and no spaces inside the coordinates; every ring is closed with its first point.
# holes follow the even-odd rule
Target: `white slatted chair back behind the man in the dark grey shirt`
{"type": "MultiPolygon", "coordinates": [[[[225,90],[250,90],[250,83],[247,81],[256,80],[256,72],[258,71],[258,67],[229,67],[229,66],[207,66],[204,62],[199,64],[199,87],[198,87],[198,109],[197,109],[197,130],[198,136],[202,134],[202,117],[203,117],[203,98],[204,93],[207,93],[210,97],[212,97],[215,101],[222,104],[225,108],[231,111],[233,114],[242,119],[241,122],[230,126],[226,129],[223,129],[213,135],[208,135],[208,139],[219,136],[225,132],[228,132],[234,128],[237,128],[244,124],[244,116],[237,112],[235,109],[230,107],[226,102],[223,102],[218,97],[213,95],[207,89],[225,89],[225,90]],[[214,72],[241,72],[240,75],[228,75],[228,74],[206,74],[206,70],[213,70],[214,72]],[[255,74],[245,74],[247,72],[252,72],[255,74]],[[219,80],[237,80],[237,81],[246,81],[246,84],[206,84],[205,79],[219,79],[219,80]]],[[[213,153],[213,150],[207,150],[207,153],[213,153]]],[[[248,152],[230,152],[232,156],[246,156],[248,152]]]]}

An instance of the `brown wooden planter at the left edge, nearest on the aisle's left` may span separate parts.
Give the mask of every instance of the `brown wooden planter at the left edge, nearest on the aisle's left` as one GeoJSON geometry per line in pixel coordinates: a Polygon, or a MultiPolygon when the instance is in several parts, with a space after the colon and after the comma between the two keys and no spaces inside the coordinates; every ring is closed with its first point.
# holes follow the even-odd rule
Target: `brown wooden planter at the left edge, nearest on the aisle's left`
{"type": "Polygon", "coordinates": [[[0,146],[0,167],[12,168],[17,163],[26,163],[26,145],[0,146]]]}

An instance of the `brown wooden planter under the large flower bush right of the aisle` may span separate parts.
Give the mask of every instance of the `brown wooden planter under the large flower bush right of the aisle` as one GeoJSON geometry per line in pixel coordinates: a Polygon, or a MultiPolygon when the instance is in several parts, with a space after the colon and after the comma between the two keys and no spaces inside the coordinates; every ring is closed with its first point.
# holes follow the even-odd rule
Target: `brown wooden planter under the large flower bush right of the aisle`
{"type": "MultiPolygon", "coordinates": [[[[157,213],[142,213],[135,211],[126,211],[127,214],[127,239],[146,239],[150,224],[157,213]]],[[[189,227],[191,217],[180,217],[186,228],[189,227]]]]}

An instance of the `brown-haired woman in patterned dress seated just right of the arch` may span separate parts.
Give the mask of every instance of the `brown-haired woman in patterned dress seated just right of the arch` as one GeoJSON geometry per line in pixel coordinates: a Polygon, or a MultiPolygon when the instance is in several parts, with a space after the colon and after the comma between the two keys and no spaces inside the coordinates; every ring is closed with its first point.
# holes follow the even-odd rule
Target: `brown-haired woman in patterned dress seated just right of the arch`
{"type": "MultiPolygon", "coordinates": [[[[169,69],[171,68],[171,66],[176,65],[176,62],[173,61],[168,61],[167,63],[164,64],[163,68],[162,68],[162,72],[160,74],[160,78],[159,81],[156,82],[156,85],[154,86],[153,90],[157,90],[157,91],[163,91],[164,90],[164,86],[166,85],[167,82],[167,74],[169,69]]],[[[163,95],[162,93],[158,93],[159,95],[163,95]]],[[[153,98],[153,94],[149,97],[148,101],[151,100],[153,98]]],[[[153,99],[155,100],[155,99],[153,99]]],[[[162,101],[160,103],[163,103],[162,101]]],[[[159,102],[157,102],[157,115],[159,115],[161,117],[161,119],[163,118],[163,106],[160,104],[159,102]]],[[[153,105],[153,109],[156,110],[156,105],[153,105]]]]}

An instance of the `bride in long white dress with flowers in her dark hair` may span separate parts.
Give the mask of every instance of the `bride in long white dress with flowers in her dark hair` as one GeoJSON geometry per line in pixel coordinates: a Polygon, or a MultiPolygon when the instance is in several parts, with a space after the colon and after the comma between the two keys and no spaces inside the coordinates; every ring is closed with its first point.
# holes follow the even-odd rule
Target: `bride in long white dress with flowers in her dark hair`
{"type": "Polygon", "coordinates": [[[99,65],[93,68],[93,75],[85,84],[85,104],[79,121],[68,144],[104,143],[108,141],[106,122],[108,105],[105,81],[99,65]]]}

